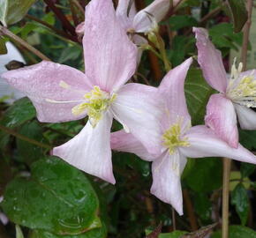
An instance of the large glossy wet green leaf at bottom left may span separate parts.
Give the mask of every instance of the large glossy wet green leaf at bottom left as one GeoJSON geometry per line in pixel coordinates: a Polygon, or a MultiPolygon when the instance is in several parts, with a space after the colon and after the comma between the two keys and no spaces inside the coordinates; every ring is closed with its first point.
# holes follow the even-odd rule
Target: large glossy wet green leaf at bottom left
{"type": "Polygon", "coordinates": [[[30,177],[12,180],[1,205],[14,223],[54,234],[81,234],[102,226],[99,201],[87,177],[56,157],[35,162],[30,177]]]}

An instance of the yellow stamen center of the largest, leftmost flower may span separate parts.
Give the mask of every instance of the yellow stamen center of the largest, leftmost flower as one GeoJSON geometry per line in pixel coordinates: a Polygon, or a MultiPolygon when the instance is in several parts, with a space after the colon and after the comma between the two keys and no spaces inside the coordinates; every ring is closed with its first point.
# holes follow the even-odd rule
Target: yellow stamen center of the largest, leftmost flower
{"type": "Polygon", "coordinates": [[[103,112],[106,111],[111,102],[117,98],[117,94],[109,95],[100,89],[99,86],[94,86],[94,89],[84,95],[84,102],[72,108],[73,115],[81,115],[87,110],[89,121],[93,127],[102,119],[103,112]]]}

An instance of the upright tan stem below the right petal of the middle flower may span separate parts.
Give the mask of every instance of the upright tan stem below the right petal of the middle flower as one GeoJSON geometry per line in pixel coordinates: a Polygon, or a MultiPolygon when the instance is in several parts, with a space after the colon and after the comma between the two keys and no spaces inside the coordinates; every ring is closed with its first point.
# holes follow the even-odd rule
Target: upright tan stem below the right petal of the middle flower
{"type": "Polygon", "coordinates": [[[231,160],[228,158],[223,158],[222,238],[229,238],[230,168],[231,160]]]}

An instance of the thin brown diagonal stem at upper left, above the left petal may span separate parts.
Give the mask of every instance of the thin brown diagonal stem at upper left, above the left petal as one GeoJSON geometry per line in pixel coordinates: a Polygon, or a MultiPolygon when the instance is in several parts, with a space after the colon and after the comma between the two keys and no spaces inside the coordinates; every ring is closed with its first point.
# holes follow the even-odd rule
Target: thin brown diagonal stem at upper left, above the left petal
{"type": "Polygon", "coordinates": [[[35,56],[40,57],[41,60],[50,61],[49,57],[43,55],[38,49],[36,49],[33,46],[29,45],[26,41],[24,41],[21,38],[19,38],[19,36],[17,36],[16,34],[11,33],[11,31],[9,31],[6,27],[0,26],[0,33],[3,33],[5,36],[10,37],[13,41],[18,42],[20,45],[22,45],[23,47],[25,47],[26,49],[28,49],[29,51],[34,53],[35,56]]]}

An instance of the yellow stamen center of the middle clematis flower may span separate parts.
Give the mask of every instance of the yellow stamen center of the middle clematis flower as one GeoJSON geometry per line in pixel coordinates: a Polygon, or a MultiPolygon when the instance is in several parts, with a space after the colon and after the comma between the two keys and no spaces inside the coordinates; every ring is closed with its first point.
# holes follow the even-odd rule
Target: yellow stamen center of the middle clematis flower
{"type": "Polygon", "coordinates": [[[163,145],[169,149],[169,154],[173,154],[179,146],[190,146],[187,138],[181,136],[181,123],[175,123],[169,127],[162,135],[163,145]]]}

